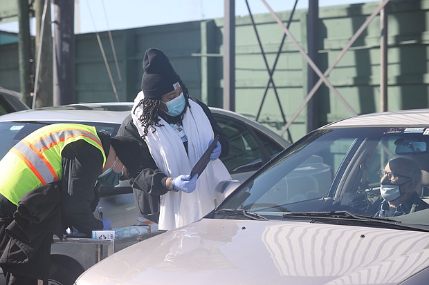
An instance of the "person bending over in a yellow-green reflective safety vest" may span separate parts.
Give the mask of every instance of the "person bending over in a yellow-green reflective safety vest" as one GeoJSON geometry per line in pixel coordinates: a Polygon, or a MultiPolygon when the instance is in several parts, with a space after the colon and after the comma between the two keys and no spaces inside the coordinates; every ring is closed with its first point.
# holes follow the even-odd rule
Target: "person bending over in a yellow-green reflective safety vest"
{"type": "Polygon", "coordinates": [[[47,280],[53,234],[111,229],[96,219],[95,184],[117,185],[141,168],[131,137],[93,126],[52,124],[21,139],[0,161],[0,266],[8,284],[47,280]]]}

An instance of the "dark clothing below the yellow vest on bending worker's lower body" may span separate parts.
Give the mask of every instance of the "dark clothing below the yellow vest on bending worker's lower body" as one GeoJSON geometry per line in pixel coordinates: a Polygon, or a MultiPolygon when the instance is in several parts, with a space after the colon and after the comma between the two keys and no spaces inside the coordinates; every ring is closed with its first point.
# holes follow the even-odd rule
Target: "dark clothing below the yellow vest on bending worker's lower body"
{"type": "MultiPolygon", "coordinates": [[[[1,199],[2,205],[8,202],[3,196],[1,199]]],[[[48,278],[53,235],[62,239],[65,231],[60,202],[61,182],[46,184],[21,197],[14,219],[1,219],[3,271],[33,279],[48,278]]]]}

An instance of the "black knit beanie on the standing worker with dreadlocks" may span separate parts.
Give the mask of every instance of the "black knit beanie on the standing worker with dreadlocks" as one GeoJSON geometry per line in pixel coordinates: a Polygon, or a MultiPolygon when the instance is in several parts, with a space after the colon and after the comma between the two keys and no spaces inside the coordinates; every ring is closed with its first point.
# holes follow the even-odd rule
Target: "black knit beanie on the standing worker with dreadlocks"
{"type": "Polygon", "coordinates": [[[149,48],[143,57],[142,90],[145,98],[160,100],[165,93],[174,90],[173,84],[180,81],[172,63],[162,50],[149,48]]]}

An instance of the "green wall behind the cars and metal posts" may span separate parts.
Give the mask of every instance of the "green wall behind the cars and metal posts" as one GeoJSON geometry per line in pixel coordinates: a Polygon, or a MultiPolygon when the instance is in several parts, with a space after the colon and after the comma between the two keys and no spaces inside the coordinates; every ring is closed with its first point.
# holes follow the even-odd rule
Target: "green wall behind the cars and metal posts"
{"type": "MultiPolygon", "coordinates": [[[[319,8],[318,68],[325,72],[354,32],[379,2],[319,8]]],[[[307,50],[307,10],[296,10],[291,33],[307,50]]],[[[392,0],[388,12],[388,110],[429,108],[428,39],[429,0],[392,0]]],[[[286,25],[291,11],[277,15],[286,25]]],[[[253,15],[268,66],[272,68],[284,32],[271,14],[253,15]]],[[[307,62],[298,48],[286,38],[273,82],[268,88],[268,71],[250,17],[235,20],[235,106],[236,111],[255,118],[273,130],[284,126],[307,96],[307,62]],[[281,108],[280,108],[281,107],[281,108]]],[[[222,106],[223,98],[223,19],[174,23],[128,30],[113,30],[120,75],[116,71],[107,32],[100,32],[109,69],[120,101],[133,101],[140,90],[143,55],[147,48],[160,48],[190,90],[190,95],[209,106],[222,106]]],[[[347,51],[329,75],[331,84],[356,113],[380,110],[380,19],[376,17],[347,51]]],[[[75,90],[77,102],[116,101],[95,33],[75,35],[75,90]]],[[[19,88],[17,43],[0,46],[0,86],[19,88]]],[[[325,84],[316,92],[318,124],[352,115],[325,84]]],[[[293,141],[307,133],[307,109],[291,124],[293,141]]],[[[286,138],[286,134],[284,135],[286,138]]]]}

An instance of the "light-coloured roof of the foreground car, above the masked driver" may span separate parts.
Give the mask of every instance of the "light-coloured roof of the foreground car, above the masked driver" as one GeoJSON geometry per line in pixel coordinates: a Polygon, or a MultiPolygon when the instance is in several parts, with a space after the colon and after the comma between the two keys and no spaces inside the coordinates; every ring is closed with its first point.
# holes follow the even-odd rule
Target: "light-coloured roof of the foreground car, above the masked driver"
{"type": "Polygon", "coordinates": [[[378,112],[342,119],[324,128],[367,127],[367,126],[429,126],[429,109],[399,110],[394,112],[378,112]]]}

